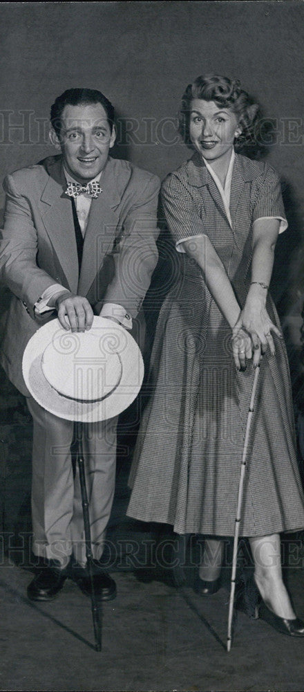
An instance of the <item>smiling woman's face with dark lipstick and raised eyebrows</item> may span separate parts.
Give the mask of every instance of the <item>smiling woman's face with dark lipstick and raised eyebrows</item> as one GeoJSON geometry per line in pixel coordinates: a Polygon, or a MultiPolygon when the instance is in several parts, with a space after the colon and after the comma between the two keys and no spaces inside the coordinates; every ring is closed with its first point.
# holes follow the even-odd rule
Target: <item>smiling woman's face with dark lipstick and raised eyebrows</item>
{"type": "Polygon", "coordinates": [[[191,143],[207,161],[216,161],[234,145],[240,134],[238,118],[229,108],[218,106],[214,101],[195,98],[191,102],[189,134],[191,143]]]}

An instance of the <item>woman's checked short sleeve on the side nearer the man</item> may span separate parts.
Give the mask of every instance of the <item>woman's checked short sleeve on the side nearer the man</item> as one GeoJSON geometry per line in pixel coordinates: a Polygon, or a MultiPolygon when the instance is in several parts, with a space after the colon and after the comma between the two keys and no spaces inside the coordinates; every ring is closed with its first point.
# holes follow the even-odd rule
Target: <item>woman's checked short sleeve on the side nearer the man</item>
{"type": "Polygon", "coordinates": [[[181,246],[184,240],[207,235],[196,203],[189,190],[174,173],[162,183],[162,205],[178,252],[184,252],[181,246]]]}

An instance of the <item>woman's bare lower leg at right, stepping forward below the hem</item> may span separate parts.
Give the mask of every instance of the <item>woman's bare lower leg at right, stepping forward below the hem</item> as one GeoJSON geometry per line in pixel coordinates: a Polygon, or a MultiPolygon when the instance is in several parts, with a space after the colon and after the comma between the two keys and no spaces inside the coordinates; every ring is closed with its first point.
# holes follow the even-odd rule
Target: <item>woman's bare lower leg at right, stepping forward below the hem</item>
{"type": "Polygon", "coordinates": [[[265,605],[279,617],[296,617],[282,579],[279,534],[249,538],[254,558],[254,579],[265,605]]]}

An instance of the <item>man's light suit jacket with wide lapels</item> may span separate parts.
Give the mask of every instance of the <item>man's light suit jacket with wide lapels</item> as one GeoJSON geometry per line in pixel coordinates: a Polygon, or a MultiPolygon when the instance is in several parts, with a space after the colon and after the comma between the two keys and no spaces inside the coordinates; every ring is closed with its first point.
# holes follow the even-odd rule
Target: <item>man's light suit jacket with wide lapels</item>
{"type": "Polygon", "coordinates": [[[8,175],[0,248],[0,277],[12,296],[5,316],[1,363],[22,394],[23,351],[55,312],[35,315],[48,286],[62,284],[85,296],[95,314],[104,303],[135,318],[158,260],[156,213],[160,181],[128,161],[108,158],[92,200],[79,274],[73,210],[61,156],[8,175]]]}

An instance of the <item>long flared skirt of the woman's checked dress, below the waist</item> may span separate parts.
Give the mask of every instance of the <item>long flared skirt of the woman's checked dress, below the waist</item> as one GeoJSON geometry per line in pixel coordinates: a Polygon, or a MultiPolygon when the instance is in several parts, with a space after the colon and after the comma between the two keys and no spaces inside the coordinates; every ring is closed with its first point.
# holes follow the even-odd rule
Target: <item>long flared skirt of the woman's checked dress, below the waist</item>
{"type": "MultiPolygon", "coordinates": [[[[192,291],[164,301],[151,356],[127,514],[179,534],[234,534],[254,368],[238,372],[231,330],[216,304],[192,291]]],[[[280,327],[272,300],[267,309],[280,327]]],[[[285,344],[260,365],[247,451],[240,536],[304,527],[285,344]]]]}

